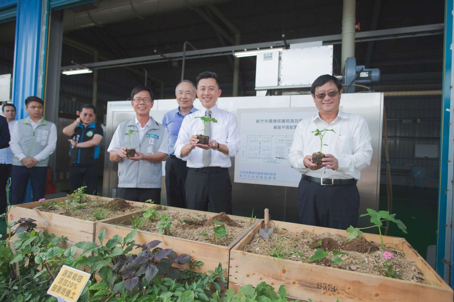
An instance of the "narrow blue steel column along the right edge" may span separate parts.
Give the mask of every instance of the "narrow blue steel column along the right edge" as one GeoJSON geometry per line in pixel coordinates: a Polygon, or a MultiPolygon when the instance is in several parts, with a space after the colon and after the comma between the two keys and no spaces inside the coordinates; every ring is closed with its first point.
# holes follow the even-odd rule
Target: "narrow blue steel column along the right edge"
{"type": "Polygon", "coordinates": [[[451,284],[453,261],[453,161],[454,161],[454,97],[452,89],[453,0],[445,1],[443,95],[441,112],[440,174],[437,234],[437,272],[451,284]]]}

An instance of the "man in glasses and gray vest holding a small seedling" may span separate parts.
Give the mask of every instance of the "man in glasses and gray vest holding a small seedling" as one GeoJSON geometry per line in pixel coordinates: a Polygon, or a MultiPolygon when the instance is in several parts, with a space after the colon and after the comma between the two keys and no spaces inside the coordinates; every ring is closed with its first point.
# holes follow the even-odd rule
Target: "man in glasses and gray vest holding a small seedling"
{"type": "Polygon", "coordinates": [[[118,125],[107,152],[112,162],[118,162],[118,197],[140,202],[152,199],[159,204],[168,131],[150,116],[153,102],[154,94],[148,87],[133,89],[131,106],[136,116],[118,125]],[[133,132],[129,136],[130,130],[133,132]],[[129,148],[136,150],[135,156],[126,156],[129,148]]]}

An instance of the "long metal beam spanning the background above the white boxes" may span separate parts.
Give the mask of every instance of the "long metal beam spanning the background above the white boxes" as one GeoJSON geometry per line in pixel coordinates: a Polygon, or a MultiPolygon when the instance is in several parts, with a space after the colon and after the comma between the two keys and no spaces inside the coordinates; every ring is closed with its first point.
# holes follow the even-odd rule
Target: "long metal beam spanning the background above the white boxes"
{"type": "MultiPolygon", "coordinates": [[[[389,30],[371,30],[365,31],[362,33],[357,33],[355,42],[364,42],[364,41],[372,41],[372,40],[389,40],[389,39],[400,39],[400,38],[408,38],[408,37],[417,37],[417,36],[424,36],[424,35],[441,35],[443,34],[444,24],[431,24],[431,25],[420,25],[420,26],[410,26],[410,27],[401,27],[401,28],[394,28],[389,30]]],[[[313,42],[313,41],[323,41],[323,45],[331,45],[331,44],[341,44],[341,34],[338,35],[325,35],[325,36],[318,36],[318,37],[311,37],[311,38],[302,38],[302,39],[293,39],[287,40],[288,44],[296,44],[296,43],[306,43],[306,42],[313,42]]],[[[271,41],[271,42],[263,42],[263,43],[254,43],[254,44],[244,44],[244,45],[232,45],[226,47],[217,47],[217,48],[209,48],[203,50],[191,50],[186,52],[186,59],[194,59],[194,58],[203,58],[203,57],[211,57],[211,56],[220,56],[220,55],[231,55],[235,51],[244,51],[244,50],[257,50],[265,49],[270,47],[283,47],[284,42],[281,41],[271,41]]],[[[165,54],[167,57],[171,59],[183,59],[183,52],[175,52],[165,54]]],[[[118,67],[118,66],[126,66],[126,65],[136,65],[136,64],[149,64],[149,63],[157,63],[162,62],[162,57],[160,55],[148,55],[136,58],[128,58],[128,59],[117,59],[111,61],[104,61],[104,62],[97,62],[97,63],[84,63],[84,66],[88,68],[110,68],[110,67],[118,67]]],[[[70,66],[63,66],[62,70],[67,69],[77,69],[76,65],[70,66]]]]}

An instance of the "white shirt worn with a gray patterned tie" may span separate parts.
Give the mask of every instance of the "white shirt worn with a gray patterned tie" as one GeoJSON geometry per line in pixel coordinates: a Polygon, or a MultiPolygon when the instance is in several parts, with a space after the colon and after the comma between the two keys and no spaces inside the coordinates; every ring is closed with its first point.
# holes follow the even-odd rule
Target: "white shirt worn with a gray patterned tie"
{"type": "MultiPolygon", "coordinates": [[[[214,139],[217,143],[225,144],[228,148],[228,154],[212,150],[210,167],[228,168],[232,166],[230,157],[235,156],[240,150],[240,133],[238,131],[237,118],[235,114],[217,108],[217,105],[214,105],[210,110],[211,117],[217,119],[217,123],[211,124],[212,137],[210,140],[214,139]]],[[[205,116],[205,111],[207,109],[202,108],[197,112],[187,114],[178,132],[178,139],[175,143],[175,156],[186,160],[186,165],[189,168],[204,167],[202,163],[202,148],[196,147],[186,157],[181,156],[181,149],[184,145],[189,144],[189,138],[192,135],[203,133],[203,122],[201,119],[195,119],[195,117],[205,116]]]]}

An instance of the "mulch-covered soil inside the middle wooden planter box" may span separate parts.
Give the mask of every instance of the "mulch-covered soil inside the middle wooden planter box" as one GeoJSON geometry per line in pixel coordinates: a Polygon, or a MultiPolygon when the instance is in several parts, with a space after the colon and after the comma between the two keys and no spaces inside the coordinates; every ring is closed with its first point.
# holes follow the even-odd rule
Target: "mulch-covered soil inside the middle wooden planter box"
{"type": "MultiPolygon", "coordinates": [[[[201,215],[195,212],[183,213],[173,210],[159,210],[159,213],[166,214],[167,217],[172,218],[172,227],[170,228],[169,236],[199,242],[213,243],[222,246],[228,246],[252,225],[252,223],[249,221],[232,220],[226,215],[226,213],[223,212],[210,219],[207,219],[205,215],[201,215]],[[226,228],[227,236],[224,238],[219,238],[217,240],[217,243],[213,241],[213,220],[226,223],[224,226],[226,228]],[[200,233],[204,232],[208,233],[208,236],[199,235],[200,233]]],[[[148,219],[143,223],[140,229],[143,231],[158,233],[159,228],[156,228],[156,223],[158,223],[158,221],[159,219],[155,219],[154,221],[148,219]]],[[[119,225],[130,227],[130,222],[123,221],[122,223],[119,223],[119,225]]]]}

